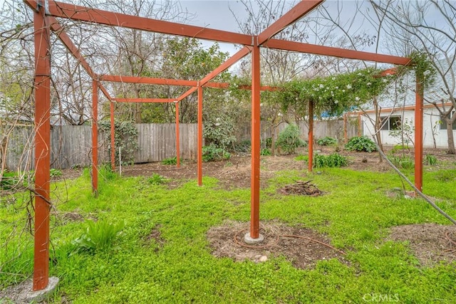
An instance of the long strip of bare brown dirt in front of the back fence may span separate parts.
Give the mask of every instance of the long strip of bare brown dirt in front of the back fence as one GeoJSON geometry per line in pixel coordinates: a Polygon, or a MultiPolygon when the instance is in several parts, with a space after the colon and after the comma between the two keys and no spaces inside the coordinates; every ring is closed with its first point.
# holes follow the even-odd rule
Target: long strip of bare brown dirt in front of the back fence
{"type": "MultiPolygon", "coordinates": [[[[320,154],[331,154],[338,152],[348,157],[348,169],[369,170],[374,172],[385,172],[391,168],[386,162],[379,162],[378,153],[372,152],[348,152],[336,147],[321,147],[316,145],[315,150],[320,154]]],[[[386,152],[390,147],[385,148],[386,152]]],[[[307,154],[307,150],[299,150],[299,154],[307,154]]],[[[447,154],[445,150],[426,149],[425,154],[432,154],[444,165],[437,163],[437,168],[447,166],[453,162],[455,167],[456,155],[447,154]]],[[[262,156],[260,160],[260,185],[266,187],[267,180],[274,177],[274,174],[284,170],[302,170],[307,169],[307,163],[296,161],[294,158],[298,154],[279,155],[279,156],[262,156]]],[[[414,157],[413,149],[407,150],[405,155],[414,157]]],[[[445,168],[446,169],[446,168],[445,168]]],[[[63,178],[73,179],[81,176],[82,169],[65,169],[63,178]]],[[[117,168],[118,171],[118,168],[117,168]]],[[[168,186],[170,188],[178,187],[189,179],[197,179],[197,162],[195,160],[184,159],[180,168],[175,165],[162,164],[161,162],[151,162],[147,164],[134,164],[122,168],[122,176],[133,177],[143,176],[151,177],[153,174],[159,174],[162,177],[170,179],[168,186]]],[[[249,154],[234,155],[230,159],[220,162],[203,162],[202,174],[205,177],[214,177],[219,180],[220,187],[224,189],[249,188],[251,174],[251,158],[249,154]]],[[[306,179],[303,173],[303,179],[306,179]]]]}

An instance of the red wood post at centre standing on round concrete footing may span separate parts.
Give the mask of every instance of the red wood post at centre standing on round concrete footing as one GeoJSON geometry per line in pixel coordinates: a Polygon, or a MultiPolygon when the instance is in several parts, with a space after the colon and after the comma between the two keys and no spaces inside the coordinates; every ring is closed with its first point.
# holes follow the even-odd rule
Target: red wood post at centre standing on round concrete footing
{"type": "MultiPolygon", "coordinates": [[[[257,39],[257,37],[254,37],[257,39]]],[[[257,42],[256,42],[257,43],[257,42]]],[[[260,73],[259,46],[252,49],[252,174],[250,181],[250,237],[259,238],[260,73]]]]}

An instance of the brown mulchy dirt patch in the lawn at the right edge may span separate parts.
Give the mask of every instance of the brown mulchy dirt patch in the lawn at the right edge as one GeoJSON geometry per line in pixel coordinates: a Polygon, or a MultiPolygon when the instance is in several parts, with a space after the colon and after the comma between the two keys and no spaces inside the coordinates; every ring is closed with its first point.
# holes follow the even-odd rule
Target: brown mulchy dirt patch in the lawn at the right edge
{"type": "Polygon", "coordinates": [[[423,266],[456,261],[456,226],[413,224],[391,229],[388,239],[409,241],[414,256],[423,266]]]}

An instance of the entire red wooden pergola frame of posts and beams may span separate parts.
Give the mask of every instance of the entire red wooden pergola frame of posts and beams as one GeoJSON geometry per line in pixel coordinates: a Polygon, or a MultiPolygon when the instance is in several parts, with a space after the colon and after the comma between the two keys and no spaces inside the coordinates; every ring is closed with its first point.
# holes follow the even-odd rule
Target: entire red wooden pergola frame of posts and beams
{"type": "MultiPolygon", "coordinates": [[[[362,61],[374,61],[395,65],[408,65],[409,58],[382,55],[363,51],[353,51],[329,46],[318,46],[309,43],[285,41],[273,38],[276,33],[289,26],[291,23],[309,14],[310,11],[320,5],[323,0],[304,0],[296,4],[284,16],[277,19],[257,36],[249,36],[242,33],[219,31],[211,28],[190,26],[169,21],[148,19],[138,16],[129,16],[110,11],[102,11],[73,4],[61,3],[53,0],[24,0],[33,9],[34,41],[35,41],[35,247],[34,247],[34,271],[33,290],[42,290],[48,285],[48,261],[49,261],[49,211],[50,201],[50,110],[51,110],[51,31],[55,33],[68,51],[81,63],[88,75],[93,79],[93,103],[92,103],[92,186],[93,192],[98,192],[98,92],[105,95],[110,101],[111,114],[111,162],[114,148],[114,108],[113,102],[133,103],[175,103],[176,105],[176,140],[177,159],[179,151],[179,102],[192,93],[198,96],[198,138],[197,138],[197,180],[202,185],[202,96],[203,87],[227,88],[227,83],[209,83],[214,77],[239,59],[252,53],[252,176],[251,176],[251,216],[249,236],[259,239],[259,162],[260,162],[260,90],[268,90],[260,86],[260,48],[274,48],[278,50],[312,53],[322,56],[335,56],[351,58],[362,61]],[[71,38],[63,30],[57,18],[72,19],[88,23],[98,23],[106,26],[119,26],[133,28],[141,31],[165,33],[176,36],[206,39],[226,43],[236,43],[244,46],[218,68],[207,74],[200,80],[173,80],[162,78],[144,78],[120,75],[98,75],[84,59],[79,48],[71,41],[71,38]],[[103,82],[144,83],[155,85],[184,85],[190,87],[187,92],[177,98],[157,99],[117,99],[112,98],[103,82]]],[[[420,75],[418,75],[419,78],[420,75]]],[[[423,88],[420,79],[417,79],[416,105],[415,105],[415,186],[422,189],[423,184],[423,88]]],[[[313,105],[309,105],[309,170],[312,169],[313,155],[313,105]]],[[[178,160],[179,161],[179,160],[178,160]]]]}

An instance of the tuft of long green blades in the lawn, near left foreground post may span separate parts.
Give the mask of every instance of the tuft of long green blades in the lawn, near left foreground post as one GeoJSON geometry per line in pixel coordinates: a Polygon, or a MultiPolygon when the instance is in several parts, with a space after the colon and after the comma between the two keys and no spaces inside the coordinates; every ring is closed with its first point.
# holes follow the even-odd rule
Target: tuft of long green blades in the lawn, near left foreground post
{"type": "Polygon", "coordinates": [[[111,224],[106,220],[86,221],[86,225],[86,232],[73,241],[76,252],[96,253],[97,251],[118,249],[115,242],[125,226],[123,221],[119,221],[117,224],[111,224]]]}

